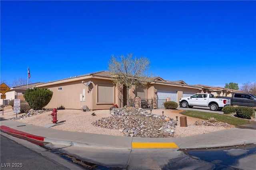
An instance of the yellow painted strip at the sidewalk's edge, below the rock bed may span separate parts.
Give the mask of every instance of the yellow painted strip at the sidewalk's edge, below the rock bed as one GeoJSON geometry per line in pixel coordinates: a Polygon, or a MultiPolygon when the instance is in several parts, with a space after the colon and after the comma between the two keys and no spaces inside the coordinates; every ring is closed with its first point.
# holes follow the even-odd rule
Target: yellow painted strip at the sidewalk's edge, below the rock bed
{"type": "Polygon", "coordinates": [[[132,142],[132,148],[178,148],[174,142],[132,142]]]}

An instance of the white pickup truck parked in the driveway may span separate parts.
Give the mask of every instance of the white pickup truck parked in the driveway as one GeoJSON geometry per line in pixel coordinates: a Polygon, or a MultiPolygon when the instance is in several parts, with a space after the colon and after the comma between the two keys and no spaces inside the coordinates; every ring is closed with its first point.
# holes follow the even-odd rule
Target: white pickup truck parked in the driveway
{"type": "Polygon", "coordinates": [[[224,106],[230,105],[230,99],[217,99],[210,93],[197,93],[190,97],[182,97],[179,102],[180,107],[210,107],[211,111],[220,111],[224,106]]]}

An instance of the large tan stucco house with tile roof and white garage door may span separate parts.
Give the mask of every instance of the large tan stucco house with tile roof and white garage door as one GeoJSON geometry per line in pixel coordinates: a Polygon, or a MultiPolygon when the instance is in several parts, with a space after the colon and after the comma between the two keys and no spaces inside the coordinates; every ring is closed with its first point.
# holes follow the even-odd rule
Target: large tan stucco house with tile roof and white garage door
{"type": "MultiPolygon", "coordinates": [[[[109,109],[112,105],[118,107],[126,105],[126,87],[113,84],[109,71],[98,71],[57,81],[51,81],[37,87],[45,87],[53,91],[53,96],[46,108],[65,107],[66,109],[81,109],[86,105],[90,110],[109,109]],[[84,83],[82,83],[84,82],[84,83]]],[[[199,87],[187,85],[184,81],[166,81],[161,77],[154,77],[147,87],[137,87],[129,90],[131,99],[140,97],[157,108],[163,107],[160,99],[175,101],[180,97],[200,92],[199,87]]]]}

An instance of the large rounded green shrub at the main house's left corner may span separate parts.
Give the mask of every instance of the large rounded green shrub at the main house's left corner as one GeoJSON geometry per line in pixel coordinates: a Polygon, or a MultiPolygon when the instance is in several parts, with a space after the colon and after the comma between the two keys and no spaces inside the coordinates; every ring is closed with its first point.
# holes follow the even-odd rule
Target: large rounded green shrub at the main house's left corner
{"type": "Polygon", "coordinates": [[[52,95],[53,92],[47,88],[34,87],[25,92],[24,98],[32,109],[39,110],[50,102],[52,95]]]}

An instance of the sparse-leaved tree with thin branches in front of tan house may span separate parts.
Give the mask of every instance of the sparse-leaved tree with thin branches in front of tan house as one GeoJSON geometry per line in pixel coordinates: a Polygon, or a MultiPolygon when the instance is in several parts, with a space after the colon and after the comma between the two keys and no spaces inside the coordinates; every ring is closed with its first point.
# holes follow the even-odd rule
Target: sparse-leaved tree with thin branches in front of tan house
{"type": "Polygon", "coordinates": [[[126,86],[127,104],[129,105],[129,90],[138,85],[148,85],[153,81],[148,72],[150,61],[146,57],[136,57],[132,54],[127,56],[112,55],[108,63],[108,69],[114,84],[119,87],[126,86]]]}

